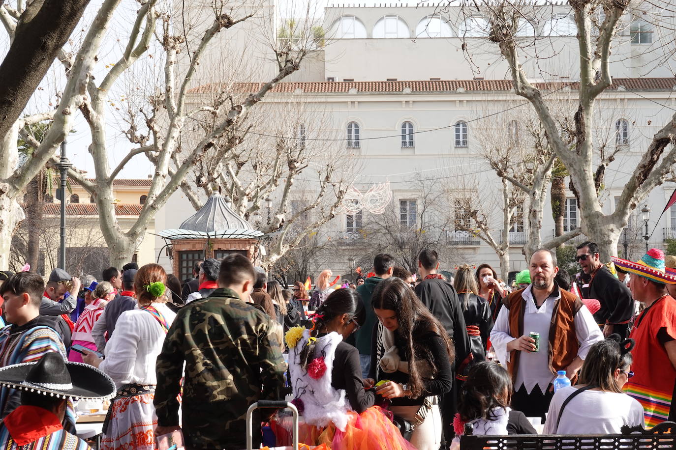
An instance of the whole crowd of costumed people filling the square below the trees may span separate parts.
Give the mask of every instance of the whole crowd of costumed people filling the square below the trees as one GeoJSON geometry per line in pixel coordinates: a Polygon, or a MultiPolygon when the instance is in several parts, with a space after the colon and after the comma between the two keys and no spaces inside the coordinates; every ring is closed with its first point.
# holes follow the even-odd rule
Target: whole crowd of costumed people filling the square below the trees
{"type": "MultiPolygon", "coordinates": [[[[103,449],[151,450],[180,430],[187,449],[241,450],[249,405],[285,395],[301,441],[334,449],[675,420],[676,258],[606,265],[585,242],[577,261],[571,279],[537,250],[512,286],[489,264],[447,279],[431,249],[415,274],[378,254],[354,285],[324,270],[314,289],[239,254],[183,282],[158,264],[110,267],[82,289],[63,269],[46,284],[0,273],[0,445],[87,448],[74,400],[94,398],[112,399],[103,449]]],[[[255,412],[255,444],[274,414],[255,412]]]]}

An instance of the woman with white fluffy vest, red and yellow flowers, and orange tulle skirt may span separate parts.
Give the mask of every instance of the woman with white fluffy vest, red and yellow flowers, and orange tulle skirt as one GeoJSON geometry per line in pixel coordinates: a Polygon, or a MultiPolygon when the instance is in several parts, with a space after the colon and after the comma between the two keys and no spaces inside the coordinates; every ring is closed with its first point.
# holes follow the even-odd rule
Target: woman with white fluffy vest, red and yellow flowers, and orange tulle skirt
{"type": "Polygon", "coordinates": [[[359,353],[343,339],[366,313],[354,289],[338,289],[316,311],[311,330],[287,332],[293,403],[303,416],[301,442],[333,450],[414,450],[364,389],[359,353]]]}

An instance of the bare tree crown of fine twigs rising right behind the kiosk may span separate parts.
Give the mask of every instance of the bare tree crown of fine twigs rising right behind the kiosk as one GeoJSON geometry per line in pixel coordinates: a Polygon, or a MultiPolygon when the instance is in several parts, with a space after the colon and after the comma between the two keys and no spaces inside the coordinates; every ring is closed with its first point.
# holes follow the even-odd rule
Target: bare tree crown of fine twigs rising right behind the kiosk
{"type": "MultiPolygon", "coordinates": [[[[266,266],[294,248],[308,250],[307,238],[341,213],[356,169],[344,164],[345,142],[325,130],[329,120],[294,95],[276,95],[243,119],[242,132],[208,150],[180,187],[199,209],[199,194],[221,186],[241,217],[274,233],[266,266]]],[[[198,125],[209,129],[213,121],[204,117],[198,125]]]]}

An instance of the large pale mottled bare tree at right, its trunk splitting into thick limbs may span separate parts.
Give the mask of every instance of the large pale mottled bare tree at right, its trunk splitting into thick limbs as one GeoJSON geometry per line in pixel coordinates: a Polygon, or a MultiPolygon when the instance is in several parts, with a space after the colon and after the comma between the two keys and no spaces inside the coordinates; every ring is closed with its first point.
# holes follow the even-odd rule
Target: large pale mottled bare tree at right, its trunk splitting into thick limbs
{"type": "MultiPolygon", "coordinates": [[[[582,231],[598,243],[602,258],[608,260],[610,256],[617,254],[619,235],[627,224],[631,210],[635,209],[654,187],[665,181],[676,162],[676,147],[673,146],[676,115],[654,135],[641,161],[633,169],[617,207],[612,214],[606,215],[598,195],[606,164],[602,161],[599,167],[594,167],[596,101],[612,86],[610,53],[615,44],[614,38],[617,37],[621,18],[630,11],[631,13],[639,11],[632,11],[637,2],[631,0],[571,0],[567,3],[577,29],[580,76],[579,82],[573,86],[577,88],[578,99],[571,127],[571,144],[566,142],[566,136],[560,133],[559,123],[544,99],[543,89],[551,89],[552,86],[531,82],[529,74],[523,67],[525,39],[518,36],[519,21],[526,16],[547,13],[548,9],[539,9],[537,5],[533,6],[533,3],[528,1],[470,2],[465,3],[464,8],[468,11],[478,8],[488,17],[490,24],[488,38],[498,45],[500,53],[508,62],[514,92],[531,103],[552,152],[571,174],[572,186],[579,203],[582,231]]],[[[544,40],[539,40],[539,45],[543,43],[544,40]]]]}

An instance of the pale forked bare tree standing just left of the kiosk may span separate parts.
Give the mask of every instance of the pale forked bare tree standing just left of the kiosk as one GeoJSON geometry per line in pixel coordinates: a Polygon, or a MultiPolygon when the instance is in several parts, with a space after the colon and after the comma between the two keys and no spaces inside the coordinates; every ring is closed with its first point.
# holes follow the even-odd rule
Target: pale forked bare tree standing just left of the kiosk
{"type": "MultiPolygon", "coordinates": [[[[118,3],[119,0],[104,3],[90,30],[95,36],[88,35],[84,38],[78,55],[64,61],[68,85],[72,84],[73,89],[79,88],[81,94],[76,101],[72,101],[68,115],[59,107],[45,142],[34,153],[51,157],[53,151],[41,152],[41,148],[48,144],[53,146],[55,139],[49,139],[53,130],[61,130],[59,136],[63,135],[64,126],[59,123],[59,117],[70,117],[76,109],[80,110],[91,131],[89,152],[93,158],[95,178],[89,181],[75,168],[69,171],[69,176],[95,199],[101,231],[110,251],[110,263],[114,266],[120,266],[131,258],[155,213],[166,204],[195,163],[219,142],[222,144],[224,136],[239,130],[247,113],[276,84],[299,69],[301,61],[308,53],[308,43],[313,40],[310,36],[306,40],[295,40],[293,45],[272,43],[276,69],[272,70],[265,82],[249,84],[239,89],[234,87],[233,82],[219,84],[210,99],[201,99],[193,95],[195,91],[191,91],[195,83],[199,83],[200,64],[209,65],[207,62],[210,62],[212,71],[222,69],[221,66],[214,67],[214,61],[207,60],[207,55],[214,57],[214,53],[209,50],[214,45],[216,36],[220,33],[236,32],[239,24],[251,20],[259,13],[257,7],[260,5],[241,5],[226,1],[210,2],[209,5],[206,2],[197,3],[194,6],[202,14],[201,19],[208,16],[208,20],[181,23],[180,11],[174,15],[172,5],[169,5],[169,9],[162,10],[166,4],[147,0],[138,9],[130,33],[122,40],[122,56],[116,63],[107,66],[108,70],[99,78],[100,82],[95,82],[87,75],[91,72],[91,67],[69,67],[82,64],[81,56],[85,49],[91,48],[92,55],[96,53],[100,41],[94,37],[102,37],[102,32],[105,31],[105,28],[99,26],[99,20],[105,20],[107,24],[108,16],[118,3]],[[154,36],[158,38],[156,43],[154,36]],[[153,53],[149,53],[151,48],[153,53]],[[135,94],[129,94],[130,88],[135,90],[135,94]],[[132,106],[120,107],[119,104],[125,101],[132,106]],[[185,135],[195,132],[187,128],[187,123],[190,123],[191,117],[206,114],[217,118],[212,128],[187,145],[185,135]],[[111,117],[116,115],[127,121],[129,126],[124,130],[124,135],[135,148],[129,150],[113,166],[110,161],[110,139],[107,139],[106,134],[111,117]],[[154,173],[139,219],[128,231],[124,231],[115,214],[112,186],[114,179],[137,155],[145,155],[151,161],[154,173]]],[[[237,55],[231,57],[233,60],[237,59],[237,55]]],[[[85,58],[84,61],[90,59],[85,58]]],[[[237,76],[235,72],[230,74],[237,76]]],[[[64,92],[64,99],[72,97],[67,93],[64,92]]],[[[30,140],[30,136],[23,137],[30,140]]],[[[243,135],[236,138],[237,141],[241,139],[243,135]]],[[[226,144],[220,150],[225,158],[231,145],[226,144]]]]}

